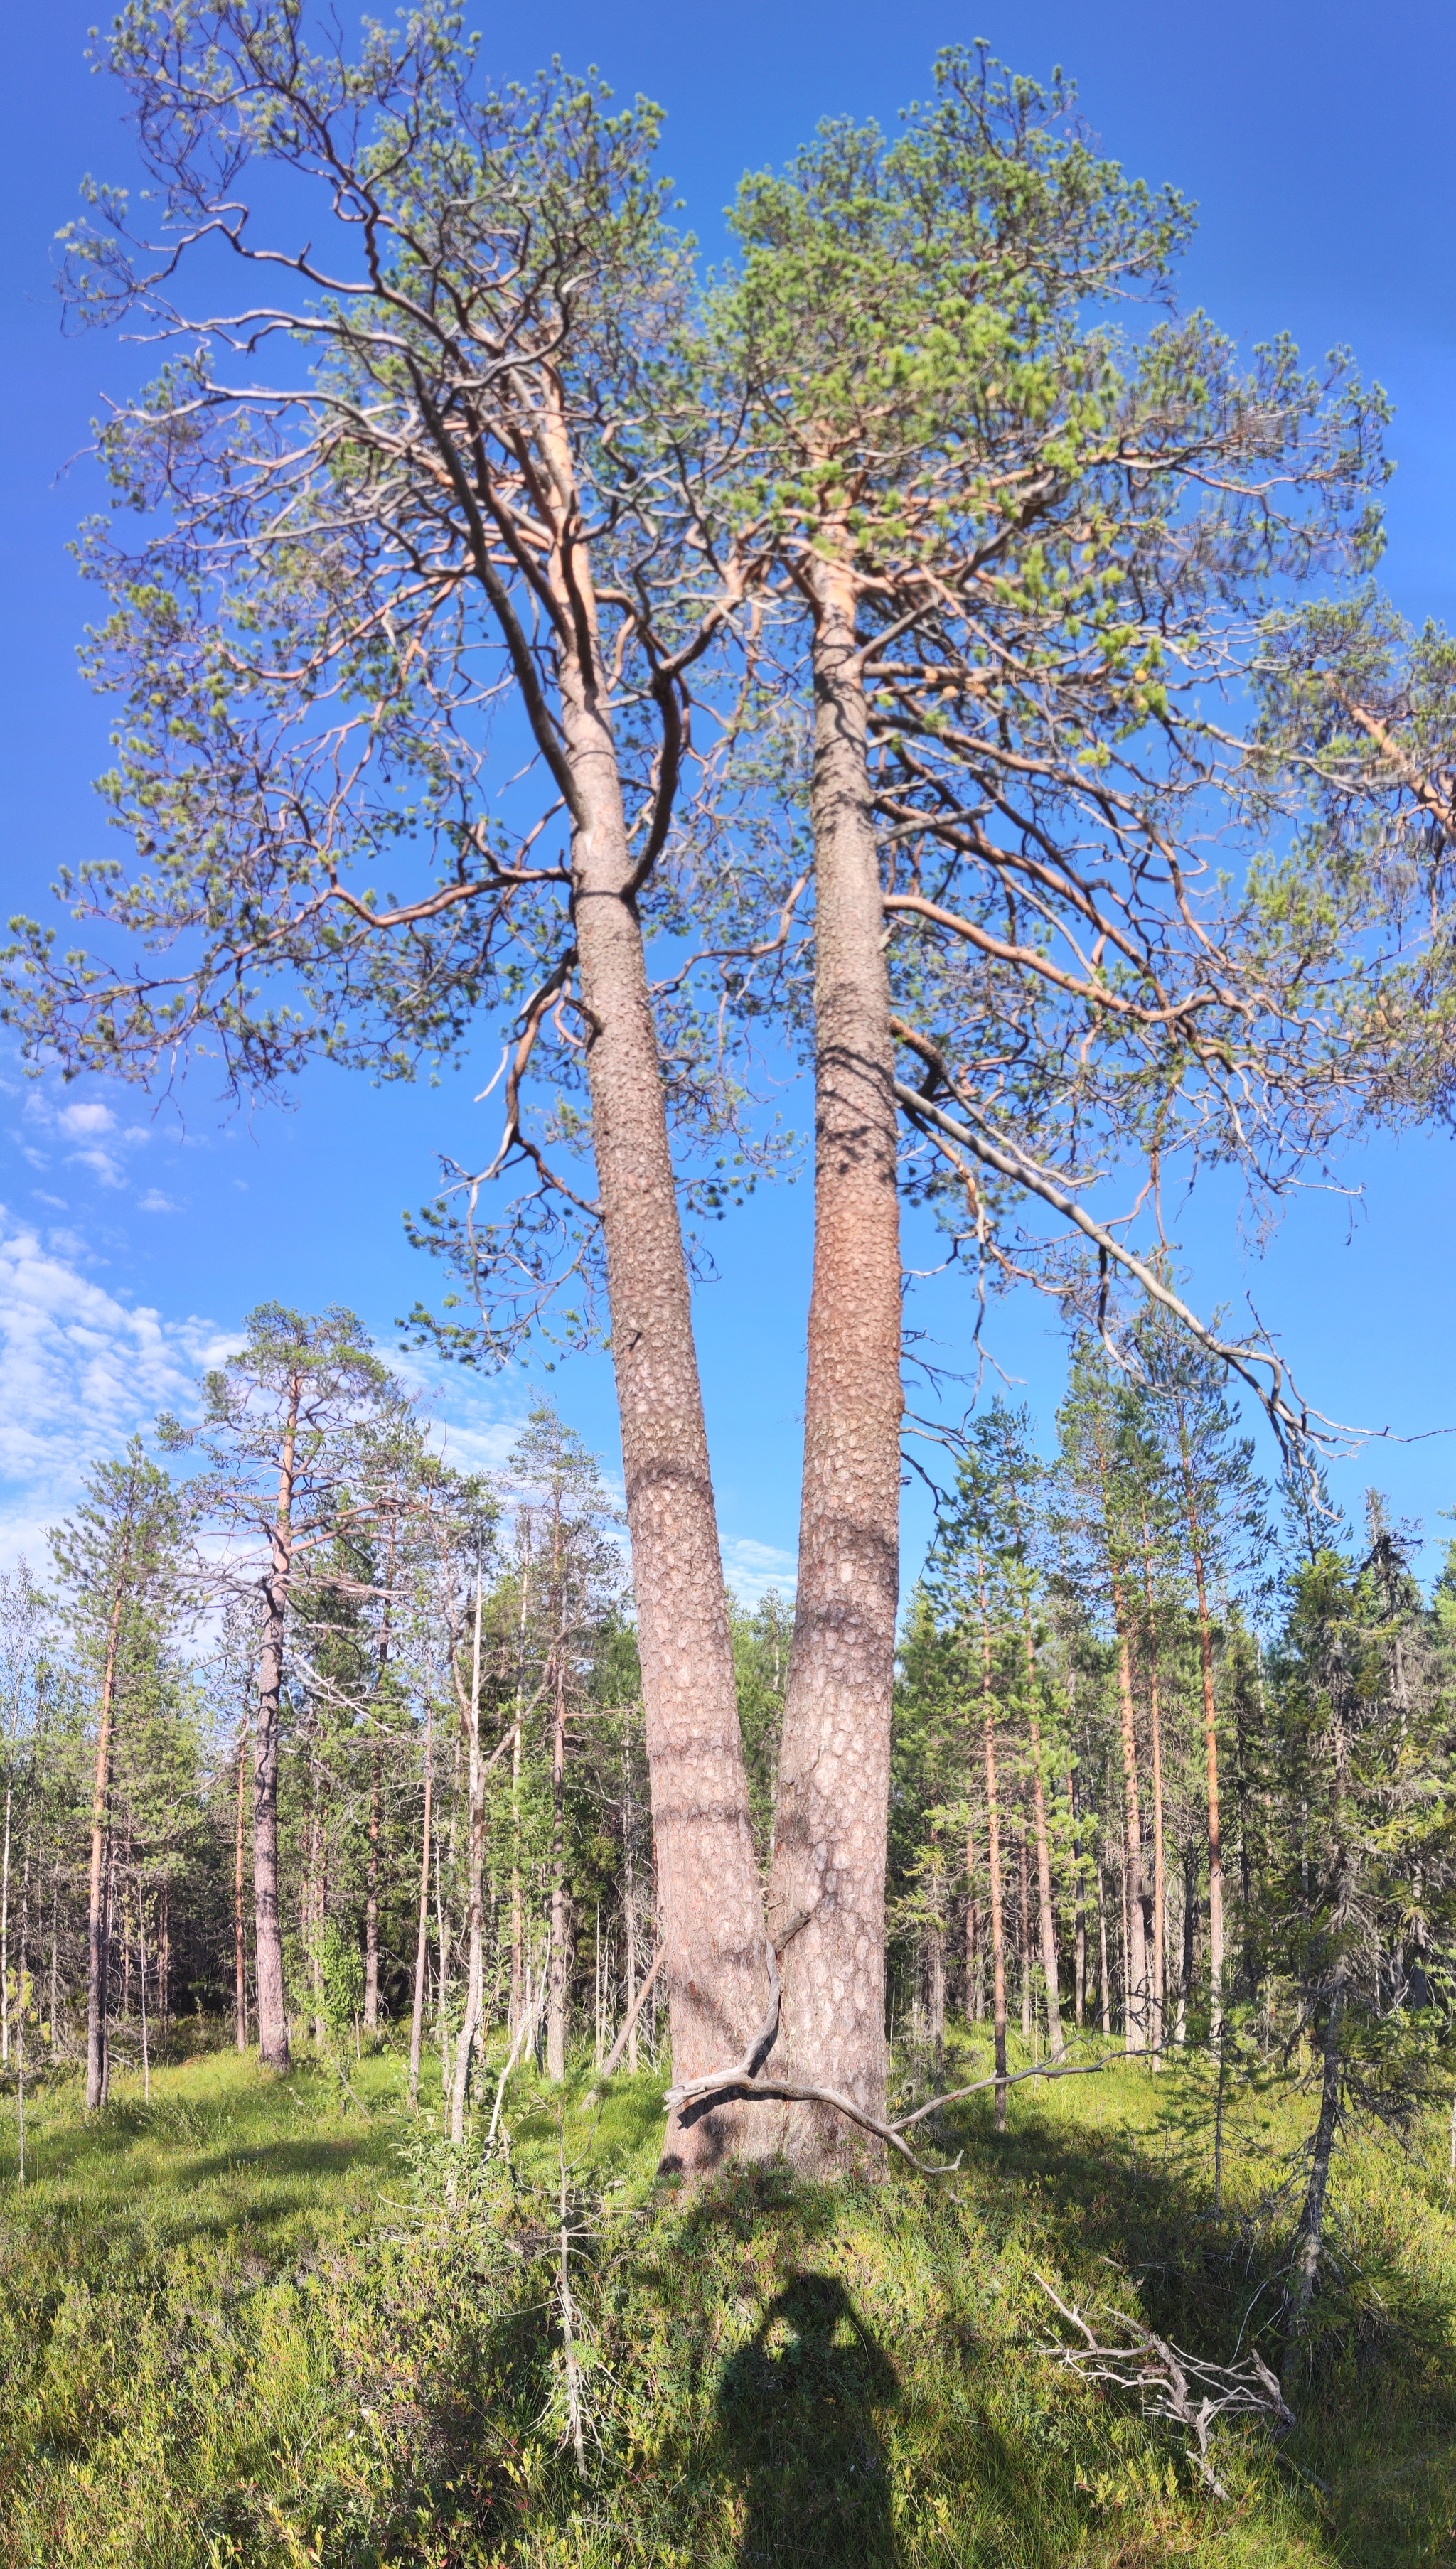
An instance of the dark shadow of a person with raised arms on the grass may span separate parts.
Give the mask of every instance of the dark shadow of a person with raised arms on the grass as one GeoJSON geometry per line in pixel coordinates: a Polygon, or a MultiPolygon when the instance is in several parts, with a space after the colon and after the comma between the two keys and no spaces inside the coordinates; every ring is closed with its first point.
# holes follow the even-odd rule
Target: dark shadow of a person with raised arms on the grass
{"type": "Polygon", "coordinates": [[[719,2430],[747,2507],[740,2561],[891,2569],[891,2479],[876,2410],[899,2381],[845,2286],[796,2276],[724,2366],[719,2430]]]}

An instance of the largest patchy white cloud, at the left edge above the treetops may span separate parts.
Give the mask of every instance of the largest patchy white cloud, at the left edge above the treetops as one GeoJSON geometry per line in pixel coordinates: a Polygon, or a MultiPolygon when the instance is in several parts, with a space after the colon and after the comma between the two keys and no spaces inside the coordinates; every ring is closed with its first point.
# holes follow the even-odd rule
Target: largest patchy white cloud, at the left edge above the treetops
{"type": "Polygon", "coordinates": [[[46,1526],[74,1505],[87,1464],[185,1405],[203,1364],[236,1346],[211,1320],[121,1302],[82,1274],[80,1251],[0,1210],[0,1559],[44,1565],[46,1526]]]}

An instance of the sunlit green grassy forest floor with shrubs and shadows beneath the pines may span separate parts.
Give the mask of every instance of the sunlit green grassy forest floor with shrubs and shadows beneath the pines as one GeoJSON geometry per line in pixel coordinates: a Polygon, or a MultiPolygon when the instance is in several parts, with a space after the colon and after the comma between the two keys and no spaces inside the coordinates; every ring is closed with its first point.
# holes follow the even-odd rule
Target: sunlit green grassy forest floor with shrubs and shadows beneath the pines
{"type": "MultiPolygon", "coordinates": [[[[971,2058],[971,2055],[966,2055],[971,2058]]],[[[976,2055],[981,2065],[981,2055],[976,2055]]],[[[434,2081],[437,2083],[437,2081],[434,2081]]],[[[1037,2348],[1063,2299],[1230,2361],[1274,2315],[1315,2104],[1248,2063],[945,2117],[950,2179],[655,2184],[660,2078],[516,2094],[447,2202],[398,2053],[198,2047],[0,2101],[3,2569],[1415,2569],[1456,2561],[1446,2135],[1348,2137],[1281,2446],[1186,2438],[1037,2348]],[[347,2086],[344,2086],[347,2078],[347,2086]],[[568,2207],[562,2333],[560,2225],[568,2207]],[[580,2453],[573,2448],[573,2371],[580,2453]]]]}

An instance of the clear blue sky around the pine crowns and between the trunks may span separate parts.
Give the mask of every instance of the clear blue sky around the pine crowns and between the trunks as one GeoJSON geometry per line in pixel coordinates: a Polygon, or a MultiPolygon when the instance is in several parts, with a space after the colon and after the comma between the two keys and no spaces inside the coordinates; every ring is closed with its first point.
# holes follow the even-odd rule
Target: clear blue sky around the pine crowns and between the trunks
{"type": "MultiPolygon", "coordinates": [[[[8,33],[0,157],[3,347],[0,629],[5,727],[5,909],[46,904],[59,863],[103,853],[90,791],[105,763],[105,706],[74,671],[85,593],[64,552],[98,506],[85,462],[100,396],[136,357],[64,339],[49,288],[51,236],[82,172],[128,177],[118,95],[85,67],[90,5],[51,0],[8,33]]],[[[665,5],[470,8],[488,67],[532,72],[552,51],[596,62],[619,92],[668,108],[665,167],[709,249],[747,164],[783,159],[819,116],[894,121],[930,87],[940,44],[986,36],[1017,69],[1061,62],[1099,146],[1199,203],[1181,301],[1207,303],[1256,342],[1289,329],[1307,355],[1351,342],[1394,398],[1384,578],[1412,617],[1456,619],[1456,241],[1448,116],[1456,15],[1435,5],[1102,8],[901,0],[747,0],[729,13],[665,5]],[[526,33],[529,28],[529,33],[526,33]]],[[[483,1043],[485,1053],[485,1043],[483,1043]]],[[[434,1182],[434,1153],[475,1161],[478,1066],[437,1089],[375,1092],[318,1071],[290,1112],[223,1123],[203,1084],[152,1110],[100,1084],[28,1087],[0,1056],[0,1549],[39,1557],[44,1523],[80,1469],[162,1400],[177,1400],[252,1302],[352,1302],[390,1344],[393,1320],[434,1277],[406,1246],[401,1210],[434,1182]]],[[[804,1123],[804,1100],[786,1100],[804,1123]]],[[[1181,1223],[1199,1302],[1253,1295],[1304,1392],[1330,1416],[1392,1426],[1412,1444],[1366,1446],[1335,1485],[1366,1480],[1441,1534],[1456,1505],[1453,1156],[1446,1135],[1382,1141],[1340,1171],[1358,1200],[1310,1195],[1258,1256],[1235,1205],[1209,1192],[1181,1223]]],[[[791,1577],[799,1511],[809,1195],[770,1187],[716,1233],[719,1282],[698,1295],[698,1346],[729,1572],[758,1593],[791,1577]]],[[[917,1310],[937,1362],[966,1367],[971,1310],[937,1287],[917,1310]]],[[[1050,1418],[1061,1336],[1043,1305],[1001,1305],[989,1344],[1050,1418]]],[[[609,1369],[552,1377],[573,1423],[611,1462],[609,1369]]],[[[455,1451],[501,1459],[532,1377],[442,1390],[455,1451]]],[[[906,1495],[906,1567],[927,1511],[906,1495]]]]}

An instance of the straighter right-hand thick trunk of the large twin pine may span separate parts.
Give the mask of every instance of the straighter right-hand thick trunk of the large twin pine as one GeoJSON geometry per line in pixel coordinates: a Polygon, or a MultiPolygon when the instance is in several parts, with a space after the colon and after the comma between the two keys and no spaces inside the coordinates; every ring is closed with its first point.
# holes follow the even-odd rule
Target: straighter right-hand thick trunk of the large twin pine
{"type": "MultiPolygon", "coordinates": [[[[809,1911],[783,1955],[783,2071],[883,2117],[883,1888],[899,1603],[901,1267],[896,1102],[865,694],[845,570],[814,614],[814,1284],[799,1598],[768,1909],[809,1911]]],[[[799,2166],[878,2161],[791,2107],[799,2166]]]]}

